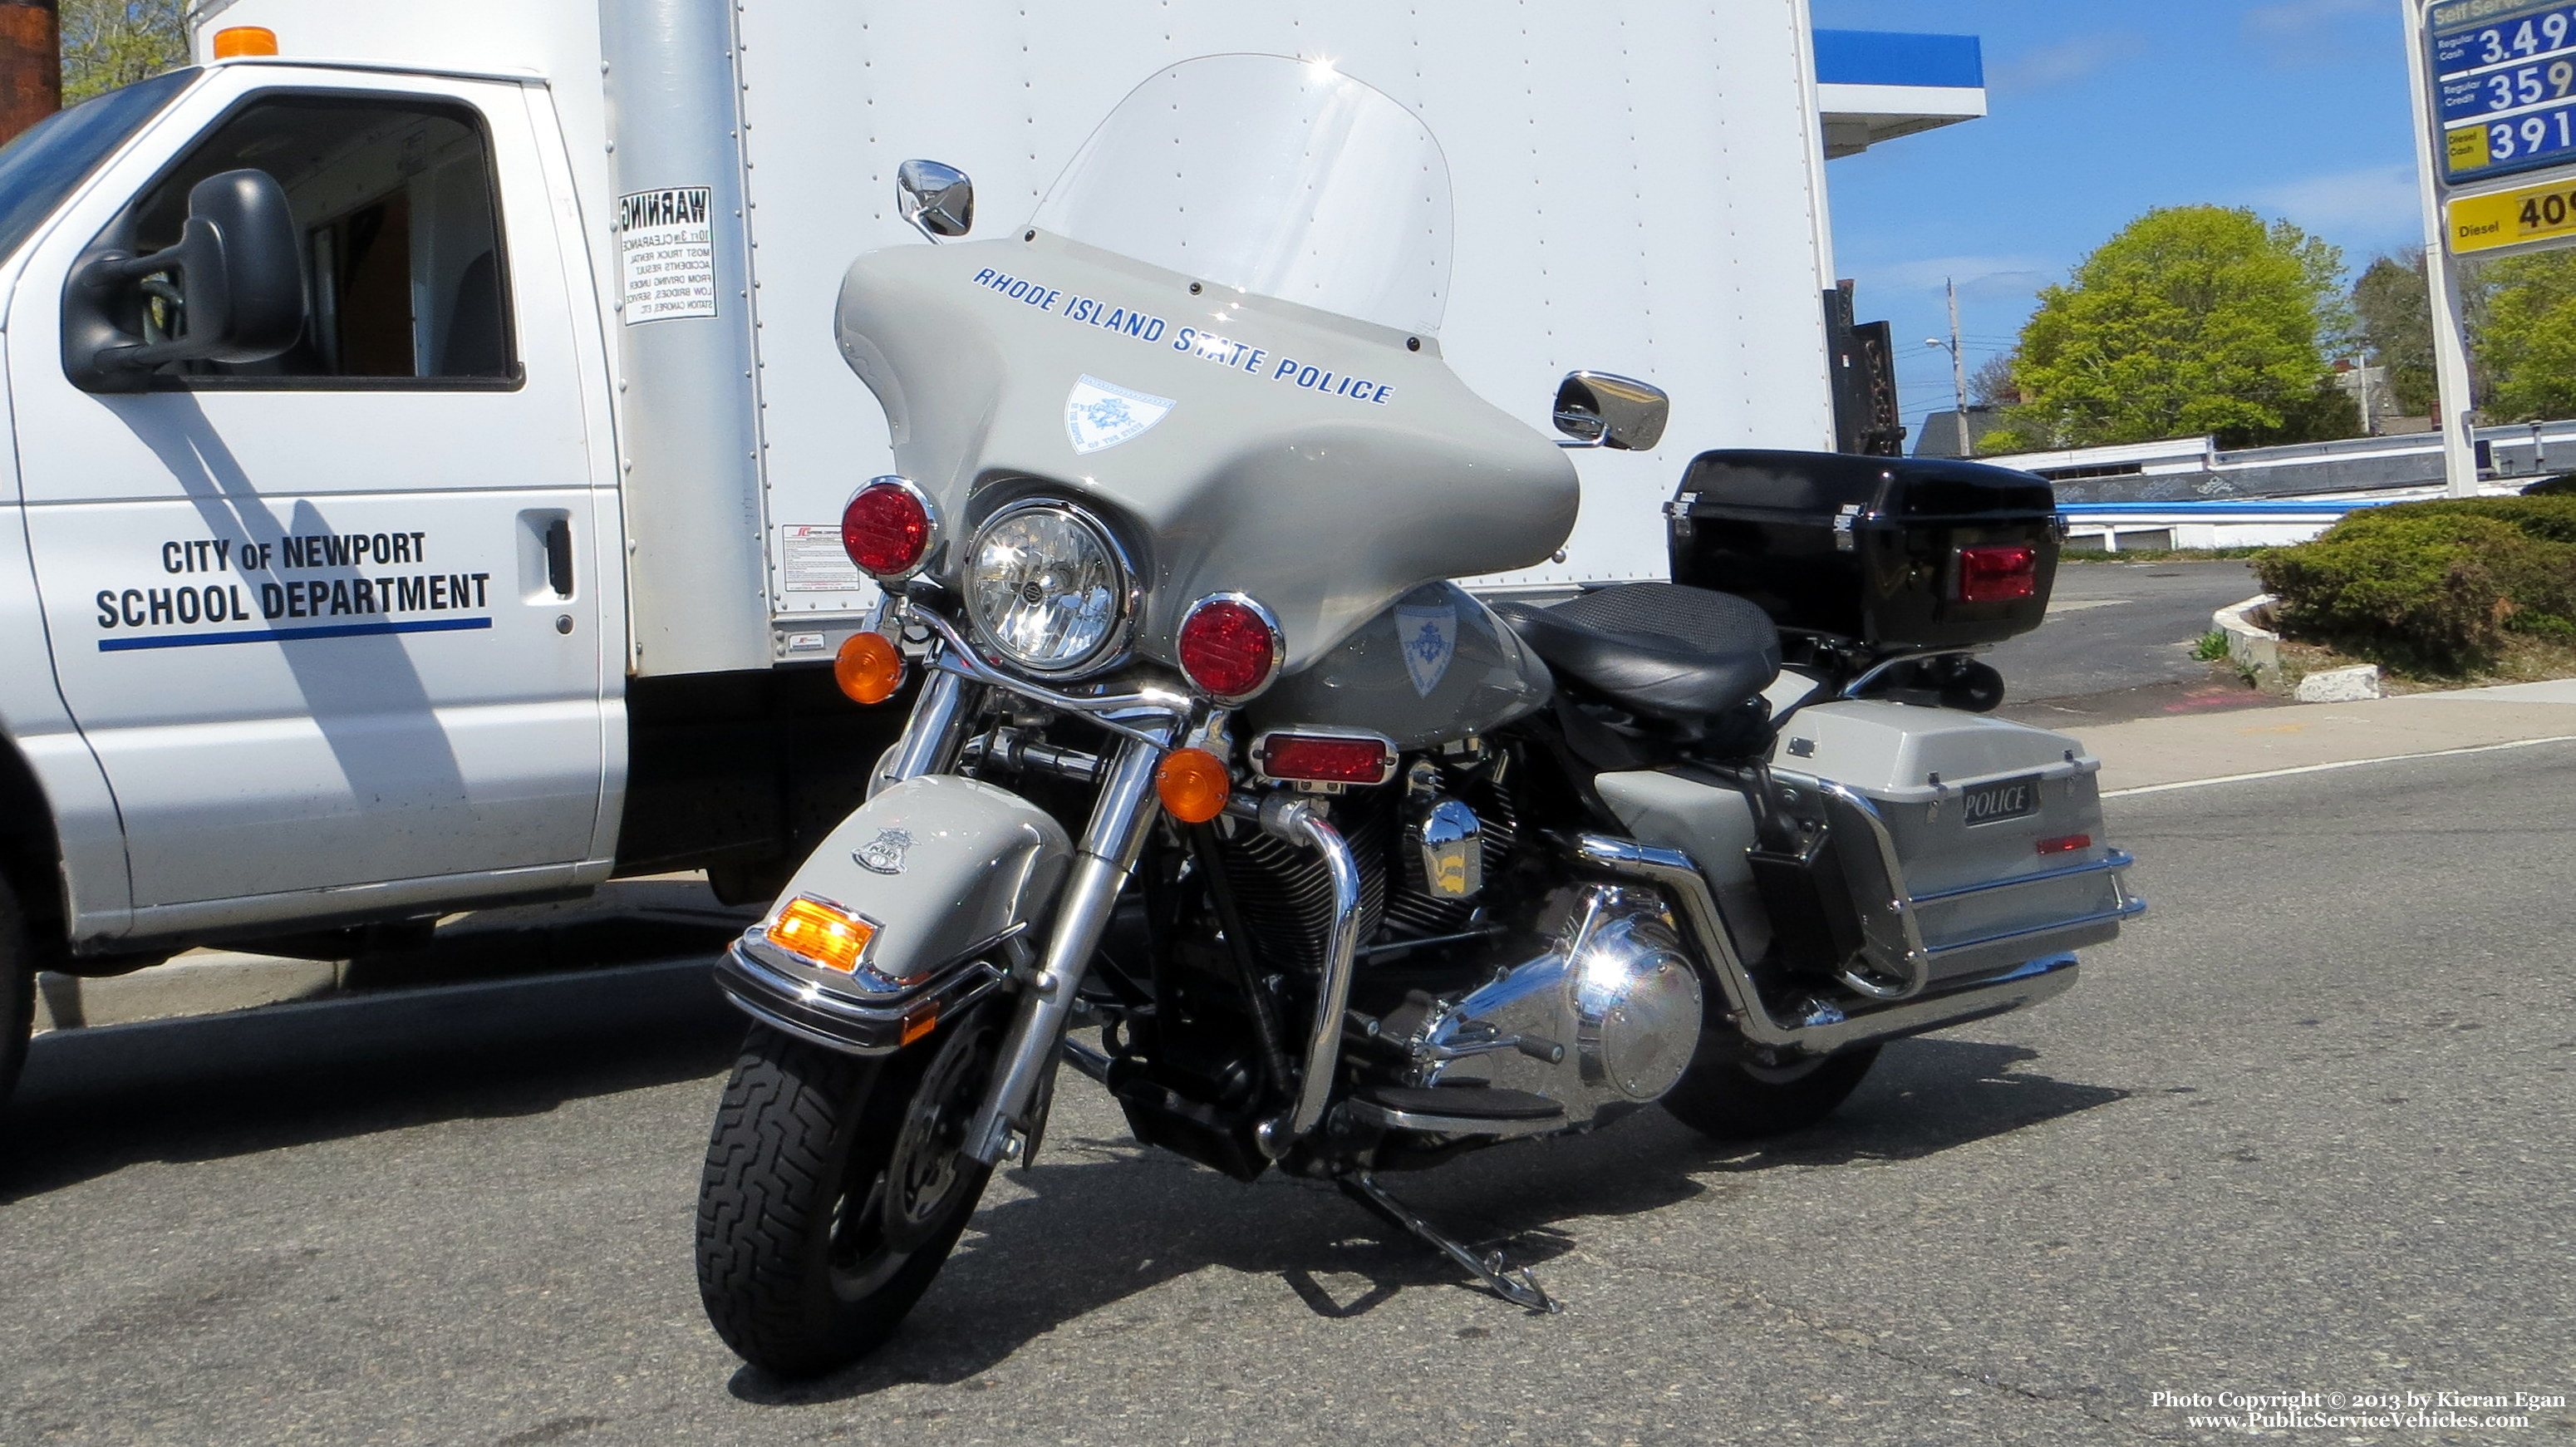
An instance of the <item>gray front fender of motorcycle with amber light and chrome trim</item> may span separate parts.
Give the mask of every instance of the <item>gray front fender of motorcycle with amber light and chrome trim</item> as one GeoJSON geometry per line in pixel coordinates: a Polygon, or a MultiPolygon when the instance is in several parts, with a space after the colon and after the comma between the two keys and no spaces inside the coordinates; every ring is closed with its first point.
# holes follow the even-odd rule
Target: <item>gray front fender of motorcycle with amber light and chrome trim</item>
{"type": "Polygon", "coordinates": [[[752,1020],[835,1050],[884,1056],[1002,981],[1064,868],[1064,826],[1025,798],[956,775],[896,783],[860,803],[716,963],[752,1020]],[[835,971],[770,940],[796,899],[873,927],[835,971]]]}

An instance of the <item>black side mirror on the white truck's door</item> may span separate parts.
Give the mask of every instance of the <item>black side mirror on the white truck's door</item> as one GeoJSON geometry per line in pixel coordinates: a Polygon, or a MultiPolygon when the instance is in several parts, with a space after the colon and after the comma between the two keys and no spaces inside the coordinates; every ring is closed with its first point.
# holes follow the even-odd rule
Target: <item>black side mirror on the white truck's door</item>
{"type": "Polygon", "coordinates": [[[301,335],[304,250],[265,170],[198,180],[175,247],[98,255],[62,299],[62,363],[85,391],[142,391],[173,360],[268,360],[301,335]]]}

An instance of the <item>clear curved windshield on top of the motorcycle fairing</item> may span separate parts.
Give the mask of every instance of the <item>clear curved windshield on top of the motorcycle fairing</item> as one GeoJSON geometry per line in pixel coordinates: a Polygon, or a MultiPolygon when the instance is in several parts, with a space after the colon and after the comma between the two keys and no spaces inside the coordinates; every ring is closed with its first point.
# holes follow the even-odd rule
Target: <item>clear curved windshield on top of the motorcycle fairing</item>
{"type": "Polygon", "coordinates": [[[1435,335],[1450,180],[1430,129],[1329,64],[1200,57],[1110,111],[1033,227],[1182,275],[1435,335]]]}

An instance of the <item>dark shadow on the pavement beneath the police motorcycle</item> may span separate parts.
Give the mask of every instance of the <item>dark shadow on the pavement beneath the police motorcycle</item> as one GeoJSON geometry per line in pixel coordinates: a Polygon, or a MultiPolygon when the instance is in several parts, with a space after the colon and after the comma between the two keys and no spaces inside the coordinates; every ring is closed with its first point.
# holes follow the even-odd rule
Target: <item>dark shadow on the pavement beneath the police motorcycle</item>
{"type": "MultiPolygon", "coordinates": [[[[1922,1159],[2128,1094],[2014,1071],[2032,1058],[2012,1045],[1901,1040],[1842,1112],[1770,1143],[1710,1143],[1664,1112],[1641,1112],[1592,1135],[1504,1146],[1381,1182],[1479,1249],[1546,1264],[1579,1246],[1571,1223],[1584,1218],[1721,1205],[1759,1190],[1759,1172],[1922,1159]]],[[[891,1347],[809,1383],[742,1367],[729,1390],[793,1406],[904,1383],[971,1388],[1028,1341],[1206,1267],[1278,1280],[1334,1321],[1365,1316],[1406,1287],[1461,1287],[1445,1262],[1394,1238],[1321,1182],[1273,1174],[1242,1187],[1123,1138],[1061,1138],[1048,1151],[1038,1169],[1010,1174],[1028,1195],[976,1213],[958,1256],[891,1347]]],[[[1211,1311],[1203,1316],[1208,1329],[1224,1329],[1211,1311]]],[[[1103,1329],[1118,1326],[1087,1326],[1103,1329]]]]}

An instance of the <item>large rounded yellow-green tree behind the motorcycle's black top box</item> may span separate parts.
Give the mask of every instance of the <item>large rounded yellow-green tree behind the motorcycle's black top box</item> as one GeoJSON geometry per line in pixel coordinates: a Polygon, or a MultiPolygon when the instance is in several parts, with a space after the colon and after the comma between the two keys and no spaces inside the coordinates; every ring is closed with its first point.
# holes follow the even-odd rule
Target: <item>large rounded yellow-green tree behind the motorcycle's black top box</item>
{"type": "Polygon", "coordinates": [[[2040,291],[2007,443],[2081,448],[2215,433],[2223,445],[2357,430],[2329,358],[2347,348],[2344,257],[2254,211],[2172,206],[2040,291]]]}

